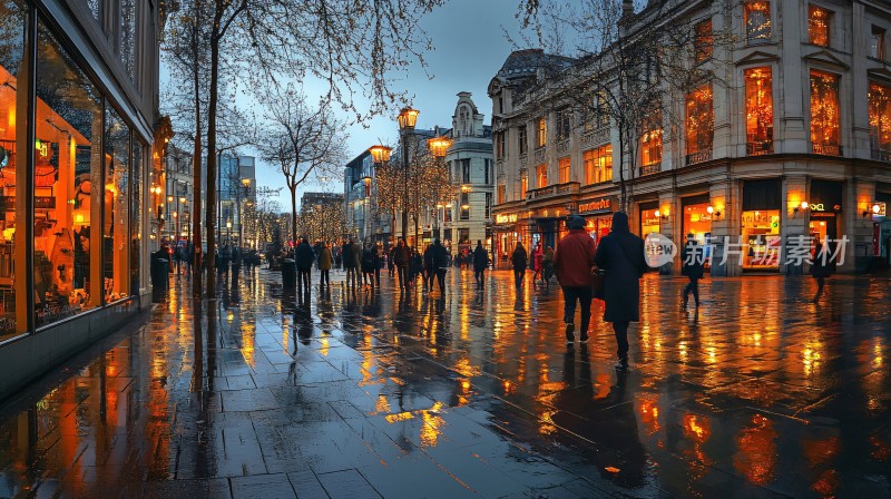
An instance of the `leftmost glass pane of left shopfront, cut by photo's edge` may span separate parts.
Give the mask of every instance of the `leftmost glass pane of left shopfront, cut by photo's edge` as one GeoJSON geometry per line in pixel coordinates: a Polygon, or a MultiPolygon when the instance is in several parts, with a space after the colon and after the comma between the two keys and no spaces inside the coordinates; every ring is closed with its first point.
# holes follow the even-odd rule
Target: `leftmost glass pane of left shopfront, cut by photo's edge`
{"type": "MultiPolygon", "coordinates": [[[[25,124],[17,127],[16,116],[26,116],[26,100],[19,98],[18,75],[22,69],[25,50],[26,7],[16,0],[0,0],[0,341],[25,333],[27,304],[16,302],[16,296],[29,293],[23,278],[16,281],[17,251],[25,252],[25,231],[18,232],[17,222],[28,217],[19,205],[25,195],[23,185],[17,182],[27,175],[23,160],[16,151],[25,147],[25,124]]],[[[22,254],[23,256],[23,254],[22,254]]],[[[19,258],[21,260],[21,258],[19,258]]],[[[20,272],[20,275],[23,272],[20,272]]]]}

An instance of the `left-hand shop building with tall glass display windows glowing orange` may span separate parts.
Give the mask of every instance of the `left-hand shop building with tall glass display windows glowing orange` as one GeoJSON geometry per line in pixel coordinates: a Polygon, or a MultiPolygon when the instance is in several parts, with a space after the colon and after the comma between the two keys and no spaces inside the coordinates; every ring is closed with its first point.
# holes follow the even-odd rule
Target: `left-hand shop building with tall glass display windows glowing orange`
{"type": "Polygon", "coordinates": [[[158,9],[0,0],[0,395],[145,300],[167,194],[157,145],[170,135],[157,112],[158,9]]]}

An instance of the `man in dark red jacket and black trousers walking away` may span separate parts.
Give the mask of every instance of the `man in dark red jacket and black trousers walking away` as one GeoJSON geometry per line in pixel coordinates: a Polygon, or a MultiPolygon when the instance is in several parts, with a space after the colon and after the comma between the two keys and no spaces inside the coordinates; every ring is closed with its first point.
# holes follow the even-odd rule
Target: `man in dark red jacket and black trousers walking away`
{"type": "Polygon", "coordinates": [[[554,270],[564,290],[564,322],[566,342],[576,340],[576,301],[581,305],[581,343],[588,341],[588,324],[591,321],[591,267],[594,266],[594,239],[585,231],[585,219],[571,216],[567,222],[567,234],[554,252],[554,270]]]}

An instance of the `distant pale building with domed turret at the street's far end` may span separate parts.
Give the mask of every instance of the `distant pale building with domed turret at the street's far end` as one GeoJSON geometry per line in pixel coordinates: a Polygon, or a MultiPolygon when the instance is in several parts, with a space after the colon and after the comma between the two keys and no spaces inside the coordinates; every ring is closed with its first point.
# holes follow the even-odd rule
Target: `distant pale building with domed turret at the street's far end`
{"type": "Polygon", "coordinates": [[[491,237],[487,226],[495,205],[492,130],[483,125],[483,115],[477,109],[470,92],[458,94],[452,128],[446,135],[452,139],[446,155],[452,197],[434,207],[434,236],[435,228],[442,226],[443,244],[452,252],[470,252],[477,241],[489,247],[491,237]]]}

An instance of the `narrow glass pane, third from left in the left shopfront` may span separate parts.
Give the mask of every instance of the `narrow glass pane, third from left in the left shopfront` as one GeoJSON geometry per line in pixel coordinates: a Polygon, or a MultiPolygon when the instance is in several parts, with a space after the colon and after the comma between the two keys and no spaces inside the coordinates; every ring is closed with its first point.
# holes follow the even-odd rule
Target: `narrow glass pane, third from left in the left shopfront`
{"type": "Polygon", "coordinates": [[[129,296],[130,128],[107,107],[105,114],[105,216],[102,276],[105,303],[129,296]]]}

